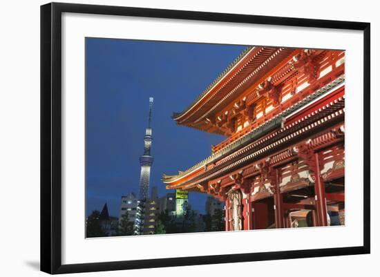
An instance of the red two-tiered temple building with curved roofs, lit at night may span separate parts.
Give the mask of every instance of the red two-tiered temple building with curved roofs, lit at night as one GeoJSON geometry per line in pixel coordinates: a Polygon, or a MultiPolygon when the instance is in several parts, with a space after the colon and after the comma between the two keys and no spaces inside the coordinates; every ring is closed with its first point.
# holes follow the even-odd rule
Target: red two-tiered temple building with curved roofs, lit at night
{"type": "Polygon", "coordinates": [[[247,48],[173,115],[227,139],[167,189],[225,202],[226,231],[344,225],[344,73],[343,50],[247,48]]]}

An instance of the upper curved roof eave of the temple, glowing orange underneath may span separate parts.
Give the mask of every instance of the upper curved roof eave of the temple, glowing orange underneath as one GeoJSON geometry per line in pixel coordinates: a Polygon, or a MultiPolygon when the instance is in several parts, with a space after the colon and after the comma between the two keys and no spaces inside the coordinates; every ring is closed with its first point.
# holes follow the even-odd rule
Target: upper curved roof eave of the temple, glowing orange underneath
{"type": "Polygon", "coordinates": [[[205,123],[207,116],[221,111],[232,97],[241,95],[278,64],[291,59],[297,51],[299,49],[296,48],[247,47],[187,109],[173,113],[173,119],[180,125],[221,134],[218,128],[205,123]]]}

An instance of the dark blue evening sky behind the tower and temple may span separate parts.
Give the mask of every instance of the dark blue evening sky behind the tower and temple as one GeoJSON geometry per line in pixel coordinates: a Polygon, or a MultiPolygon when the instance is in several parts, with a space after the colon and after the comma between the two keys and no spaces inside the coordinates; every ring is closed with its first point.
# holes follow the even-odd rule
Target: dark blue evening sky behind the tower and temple
{"type": "MultiPolygon", "coordinates": [[[[102,209],[119,216],[120,198],[138,195],[139,157],[153,104],[151,187],[167,193],[162,173],[176,174],[211,153],[224,137],[177,126],[180,112],[244,50],[245,46],[126,39],[86,39],[86,214],[102,209]]],[[[207,195],[189,193],[205,211],[207,195]]]]}

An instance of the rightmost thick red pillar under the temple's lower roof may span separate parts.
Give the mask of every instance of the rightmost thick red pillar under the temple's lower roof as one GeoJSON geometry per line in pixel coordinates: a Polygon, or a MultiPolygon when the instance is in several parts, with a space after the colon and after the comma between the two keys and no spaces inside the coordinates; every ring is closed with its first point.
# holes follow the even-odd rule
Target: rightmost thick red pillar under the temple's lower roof
{"type": "Polygon", "coordinates": [[[325,182],[321,178],[321,169],[319,169],[319,154],[314,154],[316,172],[315,172],[315,197],[316,197],[316,214],[318,218],[318,226],[327,226],[327,206],[325,196],[325,182]]]}

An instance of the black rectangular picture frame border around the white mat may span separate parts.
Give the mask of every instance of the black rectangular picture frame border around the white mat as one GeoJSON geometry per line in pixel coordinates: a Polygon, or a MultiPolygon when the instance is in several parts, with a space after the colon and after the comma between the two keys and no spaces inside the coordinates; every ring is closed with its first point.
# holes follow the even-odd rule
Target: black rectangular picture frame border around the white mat
{"type": "Polygon", "coordinates": [[[48,3],[41,6],[41,271],[66,274],[223,262],[248,262],[321,256],[370,253],[370,23],[233,15],[184,10],[95,6],[73,3],[48,3]],[[223,21],[278,26],[302,26],[363,31],[364,114],[363,114],[363,245],[330,249],[307,249],[265,253],[159,258],[62,265],[61,263],[61,15],[74,12],[97,15],[122,15],[197,21],[223,21]]]}

